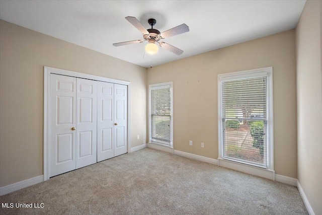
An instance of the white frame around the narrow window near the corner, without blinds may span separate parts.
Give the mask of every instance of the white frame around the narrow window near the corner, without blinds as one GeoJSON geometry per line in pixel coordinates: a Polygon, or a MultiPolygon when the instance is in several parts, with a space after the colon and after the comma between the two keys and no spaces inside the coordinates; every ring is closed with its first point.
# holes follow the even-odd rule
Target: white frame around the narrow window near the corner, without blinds
{"type": "Polygon", "coordinates": [[[173,82],[165,82],[165,83],[159,83],[159,84],[152,84],[149,85],[149,97],[148,97],[148,105],[149,105],[149,115],[148,115],[148,129],[149,129],[149,144],[157,144],[157,145],[161,145],[164,147],[170,147],[173,149],[173,82]],[[152,141],[152,136],[151,136],[151,90],[155,90],[155,89],[163,89],[163,88],[167,88],[167,86],[170,86],[170,107],[171,107],[171,113],[170,113],[170,146],[166,145],[166,144],[162,144],[161,142],[156,142],[156,141],[152,141]]]}

